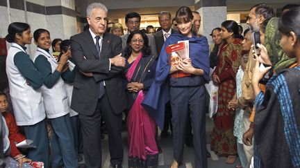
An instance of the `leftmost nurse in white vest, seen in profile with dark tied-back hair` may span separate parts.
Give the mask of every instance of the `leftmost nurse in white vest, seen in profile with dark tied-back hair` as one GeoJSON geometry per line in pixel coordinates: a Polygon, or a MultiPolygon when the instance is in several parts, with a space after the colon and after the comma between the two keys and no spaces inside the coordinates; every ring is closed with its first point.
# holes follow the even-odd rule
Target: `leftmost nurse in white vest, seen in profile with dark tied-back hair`
{"type": "Polygon", "coordinates": [[[14,22],[8,26],[6,41],[12,43],[6,58],[6,73],[15,120],[22,126],[27,139],[37,148],[28,151],[28,158],[44,162],[49,167],[49,140],[45,122],[45,110],[40,87],[43,77],[26,53],[31,44],[30,26],[14,22]]]}

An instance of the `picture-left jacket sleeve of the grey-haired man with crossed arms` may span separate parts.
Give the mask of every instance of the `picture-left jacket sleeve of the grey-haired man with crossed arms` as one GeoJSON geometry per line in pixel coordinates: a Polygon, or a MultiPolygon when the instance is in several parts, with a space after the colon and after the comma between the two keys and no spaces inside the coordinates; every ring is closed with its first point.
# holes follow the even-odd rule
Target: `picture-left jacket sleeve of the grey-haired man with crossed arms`
{"type": "Polygon", "coordinates": [[[90,59],[94,57],[91,53],[85,53],[84,50],[88,50],[88,44],[85,44],[82,36],[73,36],[71,37],[71,50],[72,57],[74,58],[78,70],[84,73],[109,73],[110,62],[108,58],[90,59]],[[90,54],[90,55],[87,55],[90,54]]]}

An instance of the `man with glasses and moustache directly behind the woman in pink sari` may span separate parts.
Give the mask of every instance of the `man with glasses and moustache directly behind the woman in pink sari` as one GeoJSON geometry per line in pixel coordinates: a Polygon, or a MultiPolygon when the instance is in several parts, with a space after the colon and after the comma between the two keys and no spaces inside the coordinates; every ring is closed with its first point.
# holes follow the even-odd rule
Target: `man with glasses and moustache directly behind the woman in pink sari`
{"type": "MultiPolygon", "coordinates": [[[[122,35],[122,47],[123,49],[126,48],[126,41],[128,39],[128,35],[129,33],[133,32],[134,30],[140,30],[140,14],[138,14],[137,12],[130,12],[126,15],[125,17],[125,24],[128,28],[128,33],[126,33],[125,35],[122,35]]],[[[158,53],[156,52],[156,42],[153,38],[152,35],[148,35],[148,40],[149,40],[149,46],[151,47],[151,55],[158,55],[158,53]]]]}

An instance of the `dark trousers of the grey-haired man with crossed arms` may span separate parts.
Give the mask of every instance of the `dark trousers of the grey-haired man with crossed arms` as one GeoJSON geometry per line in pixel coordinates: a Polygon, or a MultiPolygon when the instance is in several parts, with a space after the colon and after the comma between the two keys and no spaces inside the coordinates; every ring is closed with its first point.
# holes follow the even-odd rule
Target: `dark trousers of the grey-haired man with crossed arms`
{"type": "Polygon", "coordinates": [[[85,165],[88,168],[99,168],[102,166],[101,158],[101,117],[106,123],[108,131],[108,145],[110,151],[110,163],[112,165],[122,164],[124,151],[122,145],[122,113],[115,114],[104,94],[98,100],[93,115],[81,115],[81,129],[83,133],[83,153],[85,165]]]}

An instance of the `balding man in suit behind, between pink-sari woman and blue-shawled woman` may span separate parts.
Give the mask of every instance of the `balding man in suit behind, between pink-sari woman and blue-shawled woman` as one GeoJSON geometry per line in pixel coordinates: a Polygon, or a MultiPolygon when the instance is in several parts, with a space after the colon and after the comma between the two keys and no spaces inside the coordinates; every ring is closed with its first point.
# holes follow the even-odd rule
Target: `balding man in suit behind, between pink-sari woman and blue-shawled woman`
{"type": "MultiPolygon", "coordinates": [[[[163,44],[167,37],[169,37],[175,31],[171,28],[172,27],[172,19],[171,19],[171,12],[162,11],[158,14],[158,21],[162,30],[154,33],[154,39],[156,41],[156,50],[158,56],[160,55],[160,50],[163,48],[163,44]]],[[[168,136],[168,130],[172,131],[172,111],[169,102],[167,102],[165,107],[165,124],[164,129],[160,133],[160,138],[166,138],[168,136]]]]}

